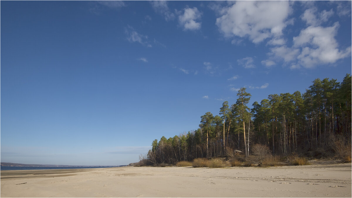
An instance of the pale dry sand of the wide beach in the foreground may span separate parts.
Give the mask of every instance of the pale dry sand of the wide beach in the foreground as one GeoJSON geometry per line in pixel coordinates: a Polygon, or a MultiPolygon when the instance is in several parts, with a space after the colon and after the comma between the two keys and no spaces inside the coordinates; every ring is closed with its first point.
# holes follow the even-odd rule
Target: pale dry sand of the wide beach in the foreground
{"type": "Polygon", "coordinates": [[[1,197],[351,197],[351,163],[1,171],[1,197]]]}

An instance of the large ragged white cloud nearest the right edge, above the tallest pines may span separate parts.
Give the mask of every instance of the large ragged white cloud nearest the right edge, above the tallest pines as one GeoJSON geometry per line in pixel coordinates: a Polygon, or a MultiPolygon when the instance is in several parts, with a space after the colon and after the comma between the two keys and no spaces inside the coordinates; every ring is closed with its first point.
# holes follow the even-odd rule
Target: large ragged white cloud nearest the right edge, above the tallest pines
{"type": "MultiPolygon", "coordinates": [[[[316,19],[308,20],[308,24],[320,24],[316,19]]],[[[322,12],[323,15],[325,12],[322,12]]],[[[319,19],[320,20],[320,19],[319,19]]],[[[339,23],[333,26],[323,27],[310,25],[300,31],[300,34],[293,38],[293,46],[286,45],[270,48],[268,55],[270,60],[263,60],[262,64],[270,67],[275,63],[272,60],[283,60],[284,64],[290,64],[290,69],[314,68],[319,64],[331,64],[341,58],[351,56],[351,46],[340,50],[335,36],[339,28],[339,23]]]]}

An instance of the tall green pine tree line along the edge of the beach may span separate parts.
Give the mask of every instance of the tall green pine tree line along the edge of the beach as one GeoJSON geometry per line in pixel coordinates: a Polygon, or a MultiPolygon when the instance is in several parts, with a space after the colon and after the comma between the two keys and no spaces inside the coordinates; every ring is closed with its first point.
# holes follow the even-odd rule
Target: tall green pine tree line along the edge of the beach
{"type": "Polygon", "coordinates": [[[271,94],[260,103],[254,102],[252,109],[247,106],[251,94],[241,88],[234,104],[222,103],[219,115],[202,115],[198,129],[155,139],[145,159],[153,164],[175,164],[236,151],[247,157],[256,143],[269,146],[275,155],[323,157],[336,150],[332,141],[337,137],[350,148],[350,74],[341,83],[329,78],[312,83],[303,94],[271,94]]]}

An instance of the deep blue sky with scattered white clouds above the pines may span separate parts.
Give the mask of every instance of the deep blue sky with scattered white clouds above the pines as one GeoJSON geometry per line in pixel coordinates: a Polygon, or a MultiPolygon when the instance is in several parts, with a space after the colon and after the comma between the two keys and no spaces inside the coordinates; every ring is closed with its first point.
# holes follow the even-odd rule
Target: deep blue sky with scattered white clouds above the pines
{"type": "Polygon", "coordinates": [[[0,160],[126,165],[253,102],[351,74],[351,1],[1,1],[0,160]]]}

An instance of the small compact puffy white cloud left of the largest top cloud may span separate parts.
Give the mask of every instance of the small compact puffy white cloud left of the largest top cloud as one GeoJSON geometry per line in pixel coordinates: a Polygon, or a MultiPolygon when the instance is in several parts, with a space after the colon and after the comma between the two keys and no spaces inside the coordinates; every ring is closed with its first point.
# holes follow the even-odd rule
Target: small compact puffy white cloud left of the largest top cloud
{"type": "Polygon", "coordinates": [[[201,18],[202,13],[196,7],[184,8],[184,13],[178,16],[178,22],[183,27],[183,30],[199,30],[201,22],[196,20],[201,18]]]}

